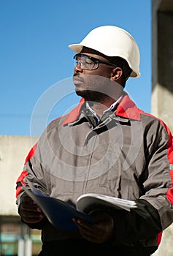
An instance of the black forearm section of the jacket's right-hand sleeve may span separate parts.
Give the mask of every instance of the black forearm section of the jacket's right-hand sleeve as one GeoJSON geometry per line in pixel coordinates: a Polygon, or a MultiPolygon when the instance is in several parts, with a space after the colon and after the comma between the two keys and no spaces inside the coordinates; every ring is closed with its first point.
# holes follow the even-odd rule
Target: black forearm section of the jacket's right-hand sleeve
{"type": "Polygon", "coordinates": [[[137,200],[137,208],[128,211],[109,211],[115,222],[112,245],[134,245],[139,241],[155,239],[158,245],[158,234],[161,233],[161,220],[158,211],[146,200],[137,200]]]}

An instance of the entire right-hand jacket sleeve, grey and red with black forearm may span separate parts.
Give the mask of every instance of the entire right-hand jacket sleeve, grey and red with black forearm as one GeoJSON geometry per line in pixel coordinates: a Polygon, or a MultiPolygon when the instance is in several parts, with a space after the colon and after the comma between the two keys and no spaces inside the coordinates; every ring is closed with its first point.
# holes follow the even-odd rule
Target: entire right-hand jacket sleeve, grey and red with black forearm
{"type": "Polygon", "coordinates": [[[163,122],[155,123],[152,140],[145,134],[146,165],[140,181],[142,196],[137,200],[138,208],[109,212],[115,222],[113,244],[134,244],[156,237],[159,245],[162,231],[173,222],[172,134],[163,122]]]}

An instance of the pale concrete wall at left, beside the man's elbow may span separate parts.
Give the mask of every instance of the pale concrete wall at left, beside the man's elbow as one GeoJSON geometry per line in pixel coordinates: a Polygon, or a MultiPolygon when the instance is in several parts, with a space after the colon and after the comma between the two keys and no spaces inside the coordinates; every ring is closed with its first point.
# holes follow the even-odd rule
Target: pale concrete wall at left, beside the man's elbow
{"type": "Polygon", "coordinates": [[[15,182],[23,170],[28,151],[37,138],[0,136],[0,215],[18,215],[15,182]]]}

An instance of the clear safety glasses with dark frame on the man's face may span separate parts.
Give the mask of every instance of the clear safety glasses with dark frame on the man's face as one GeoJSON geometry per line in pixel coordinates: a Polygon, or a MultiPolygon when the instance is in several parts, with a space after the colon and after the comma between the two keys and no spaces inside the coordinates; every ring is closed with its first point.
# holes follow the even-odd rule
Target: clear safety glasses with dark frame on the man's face
{"type": "Polygon", "coordinates": [[[75,60],[75,65],[80,64],[81,69],[89,69],[89,70],[98,69],[100,63],[106,64],[112,67],[118,67],[117,65],[112,64],[111,62],[101,61],[100,59],[96,59],[82,53],[77,53],[73,57],[73,59],[75,60]]]}

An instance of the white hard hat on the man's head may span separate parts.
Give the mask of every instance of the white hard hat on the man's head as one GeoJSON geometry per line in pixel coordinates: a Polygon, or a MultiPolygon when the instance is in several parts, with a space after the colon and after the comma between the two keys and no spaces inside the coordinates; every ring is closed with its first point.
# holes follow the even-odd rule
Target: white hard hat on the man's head
{"type": "Polygon", "coordinates": [[[97,50],[109,57],[121,57],[131,67],[131,78],[139,78],[140,53],[137,42],[126,30],[117,26],[99,26],[93,29],[78,44],[69,45],[75,53],[83,47],[97,50]]]}

